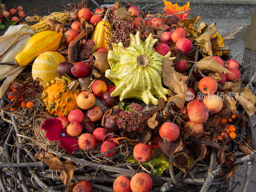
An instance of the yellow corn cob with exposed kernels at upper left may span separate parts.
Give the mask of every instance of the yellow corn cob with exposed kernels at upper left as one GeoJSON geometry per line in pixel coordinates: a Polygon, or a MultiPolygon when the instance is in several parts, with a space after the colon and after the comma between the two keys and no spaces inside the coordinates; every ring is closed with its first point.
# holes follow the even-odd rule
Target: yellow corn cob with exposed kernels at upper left
{"type": "MultiPolygon", "coordinates": [[[[69,17],[69,13],[68,12],[64,12],[64,13],[59,13],[57,15],[53,15],[48,19],[56,19],[57,21],[59,21],[60,23],[65,23],[66,20],[69,17]]],[[[32,28],[36,33],[42,32],[42,31],[47,31],[50,30],[50,28],[46,25],[46,20],[43,20],[39,23],[36,23],[35,25],[32,25],[30,28],[32,28]]]]}

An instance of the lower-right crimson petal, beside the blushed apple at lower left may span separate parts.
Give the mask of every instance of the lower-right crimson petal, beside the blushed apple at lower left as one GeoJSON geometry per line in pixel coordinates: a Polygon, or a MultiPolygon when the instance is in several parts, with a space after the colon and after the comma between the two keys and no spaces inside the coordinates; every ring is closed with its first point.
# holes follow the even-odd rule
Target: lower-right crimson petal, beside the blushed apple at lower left
{"type": "Polygon", "coordinates": [[[60,138],[60,147],[71,154],[78,149],[78,139],[68,135],[66,129],[63,129],[62,132],[65,136],[60,138]]]}

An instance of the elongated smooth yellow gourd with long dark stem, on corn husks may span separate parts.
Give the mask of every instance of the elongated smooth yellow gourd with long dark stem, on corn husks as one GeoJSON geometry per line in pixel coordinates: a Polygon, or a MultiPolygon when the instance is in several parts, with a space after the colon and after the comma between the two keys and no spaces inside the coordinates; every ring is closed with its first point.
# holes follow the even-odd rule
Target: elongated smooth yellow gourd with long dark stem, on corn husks
{"type": "Polygon", "coordinates": [[[62,33],[54,31],[42,31],[37,33],[28,40],[24,49],[15,56],[15,61],[0,63],[0,65],[26,66],[41,53],[56,51],[60,46],[62,36],[62,33]]]}

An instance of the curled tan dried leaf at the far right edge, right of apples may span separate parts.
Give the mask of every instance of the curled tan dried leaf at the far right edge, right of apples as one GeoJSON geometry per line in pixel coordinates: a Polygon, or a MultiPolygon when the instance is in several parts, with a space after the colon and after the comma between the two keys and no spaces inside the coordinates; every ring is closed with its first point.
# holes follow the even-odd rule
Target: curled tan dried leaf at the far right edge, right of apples
{"type": "Polygon", "coordinates": [[[244,87],[244,89],[239,87],[238,92],[234,92],[234,97],[236,101],[238,101],[238,103],[245,109],[246,113],[249,116],[252,116],[253,113],[256,111],[256,107],[254,106],[256,102],[256,97],[252,94],[250,89],[248,89],[247,87],[244,87]]]}

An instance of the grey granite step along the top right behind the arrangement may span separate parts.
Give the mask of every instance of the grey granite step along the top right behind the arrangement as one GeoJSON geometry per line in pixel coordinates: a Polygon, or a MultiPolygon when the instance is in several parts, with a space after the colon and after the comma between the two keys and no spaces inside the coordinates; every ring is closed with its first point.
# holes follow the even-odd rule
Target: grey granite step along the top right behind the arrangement
{"type": "MultiPolygon", "coordinates": [[[[127,0],[129,1],[129,0],[127,0]]],[[[133,2],[133,1],[131,1],[133,2]]],[[[162,0],[151,0],[152,4],[160,3],[162,0]]],[[[171,1],[172,4],[178,3],[183,6],[187,0],[171,1]]],[[[190,11],[188,18],[193,18],[197,15],[206,18],[220,19],[251,19],[254,10],[256,9],[255,0],[190,0],[190,11]]],[[[113,4],[114,0],[104,0],[105,4],[113,4]]],[[[145,6],[148,0],[140,0],[136,3],[140,7],[145,6]]],[[[153,7],[152,9],[162,8],[164,3],[153,7]]]]}

